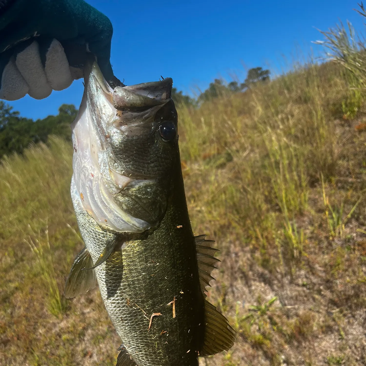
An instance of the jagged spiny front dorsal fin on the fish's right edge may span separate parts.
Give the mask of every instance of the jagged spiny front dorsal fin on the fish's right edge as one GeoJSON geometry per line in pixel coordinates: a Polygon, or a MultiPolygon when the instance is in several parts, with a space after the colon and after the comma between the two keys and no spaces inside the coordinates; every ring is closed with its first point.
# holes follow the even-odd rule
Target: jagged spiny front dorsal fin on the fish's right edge
{"type": "Polygon", "coordinates": [[[205,292],[206,286],[209,286],[210,281],[214,280],[211,276],[211,272],[216,268],[214,264],[220,262],[219,259],[214,257],[214,254],[218,250],[211,247],[214,240],[205,240],[205,238],[206,235],[198,235],[194,237],[196,242],[199,283],[201,285],[202,292],[205,292]]]}

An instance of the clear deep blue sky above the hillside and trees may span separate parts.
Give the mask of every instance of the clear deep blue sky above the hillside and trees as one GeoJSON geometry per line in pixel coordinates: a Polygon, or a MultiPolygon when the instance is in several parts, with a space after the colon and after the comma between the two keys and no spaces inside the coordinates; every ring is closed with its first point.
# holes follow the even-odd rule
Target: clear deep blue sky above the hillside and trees
{"type": "MultiPolygon", "coordinates": [[[[339,19],[363,30],[353,8],[357,0],[89,0],[113,24],[111,63],[127,85],[173,78],[174,86],[191,94],[204,90],[214,78],[245,79],[246,70],[262,66],[273,72],[306,58],[311,41],[322,39],[339,19]],[[299,50],[301,50],[299,54],[299,50]]],[[[366,18],[365,18],[366,20],[366,18]]],[[[22,116],[33,119],[57,114],[63,103],[79,106],[81,80],[45,100],[10,102],[22,116]]]]}

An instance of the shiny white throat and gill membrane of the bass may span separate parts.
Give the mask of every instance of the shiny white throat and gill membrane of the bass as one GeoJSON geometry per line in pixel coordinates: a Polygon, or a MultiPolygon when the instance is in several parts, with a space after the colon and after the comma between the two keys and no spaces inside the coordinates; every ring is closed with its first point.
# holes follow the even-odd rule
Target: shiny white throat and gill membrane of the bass
{"type": "Polygon", "coordinates": [[[83,208],[97,223],[117,232],[143,232],[151,225],[124,212],[114,199],[114,195],[132,183],[132,179],[108,167],[107,150],[101,142],[101,126],[97,126],[90,112],[98,110],[103,113],[104,121],[113,121],[117,110],[105,95],[106,91],[112,94],[113,89],[104,79],[100,81],[94,77],[89,82],[95,83],[91,88],[95,92],[94,100],[100,105],[90,105],[85,91],[78,116],[71,125],[74,145],[72,180],[75,182],[72,194],[81,198],[83,208]],[[103,87],[100,86],[101,82],[105,83],[103,87]]]}

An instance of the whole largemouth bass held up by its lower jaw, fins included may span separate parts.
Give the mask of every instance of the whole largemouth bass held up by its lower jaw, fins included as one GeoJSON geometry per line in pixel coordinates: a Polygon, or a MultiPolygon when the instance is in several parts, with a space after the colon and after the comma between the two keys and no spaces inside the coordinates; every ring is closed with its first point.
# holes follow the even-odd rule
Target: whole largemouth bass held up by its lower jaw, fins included
{"type": "Polygon", "coordinates": [[[194,236],[172,79],[112,89],[96,62],[72,124],[71,195],[85,248],[68,298],[95,287],[123,344],[121,366],[197,366],[235,332],[206,299],[218,260],[194,236]]]}

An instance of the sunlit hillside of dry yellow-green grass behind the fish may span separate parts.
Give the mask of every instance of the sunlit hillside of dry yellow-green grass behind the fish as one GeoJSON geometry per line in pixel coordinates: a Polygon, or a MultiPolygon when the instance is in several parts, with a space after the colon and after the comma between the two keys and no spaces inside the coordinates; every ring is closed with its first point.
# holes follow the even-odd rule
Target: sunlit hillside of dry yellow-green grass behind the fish
{"type": "MultiPolygon", "coordinates": [[[[238,332],[202,365],[365,365],[366,109],[352,74],[309,64],[179,108],[194,232],[221,251],[209,299],[238,332]]],[[[72,146],[0,167],[0,364],[115,365],[98,289],[66,301],[83,243],[72,146]]]]}

